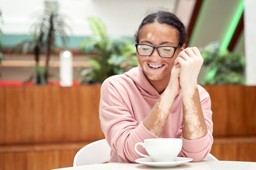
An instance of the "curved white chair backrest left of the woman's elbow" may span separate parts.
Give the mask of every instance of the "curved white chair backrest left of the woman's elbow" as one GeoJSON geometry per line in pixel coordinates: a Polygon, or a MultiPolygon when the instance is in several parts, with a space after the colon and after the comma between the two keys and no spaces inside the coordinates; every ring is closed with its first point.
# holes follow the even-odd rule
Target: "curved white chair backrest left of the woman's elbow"
{"type": "Polygon", "coordinates": [[[73,166],[105,163],[110,160],[111,148],[106,139],[92,142],[81,148],[74,157],[73,166]]]}

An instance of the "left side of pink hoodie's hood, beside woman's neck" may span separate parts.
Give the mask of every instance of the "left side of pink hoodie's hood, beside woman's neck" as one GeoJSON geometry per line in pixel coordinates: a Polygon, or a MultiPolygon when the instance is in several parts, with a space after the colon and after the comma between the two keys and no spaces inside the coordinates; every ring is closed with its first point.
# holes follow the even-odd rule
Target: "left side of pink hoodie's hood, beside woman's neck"
{"type": "Polygon", "coordinates": [[[159,93],[155,88],[148,82],[148,79],[144,75],[140,66],[130,69],[128,72],[124,73],[127,77],[130,77],[135,83],[135,86],[139,89],[141,95],[150,98],[159,98],[159,93]]]}

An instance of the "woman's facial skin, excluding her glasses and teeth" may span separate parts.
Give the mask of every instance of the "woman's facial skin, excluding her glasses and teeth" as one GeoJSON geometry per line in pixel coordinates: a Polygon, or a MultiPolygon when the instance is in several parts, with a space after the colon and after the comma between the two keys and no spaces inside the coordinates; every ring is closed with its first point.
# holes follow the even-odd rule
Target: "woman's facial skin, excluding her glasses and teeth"
{"type": "MultiPolygon", "coordinates": [[[[152,46],[178,46],[178,31],[167,24],[159,24],[157,22],[146,24],[139,33],[138,43],[152,46]]],[[[156,49],[150,56],[141,56],[137,53],[139,65],[141,66],[148,81],[169,81],[171,69],[174,66],[174,60],[183,49],[183,46],[182,48],[177,49],[171,58],[160,57],[156,49]],[[152,68],[152,65],[162,66],[159,68],[152,68]]]]}

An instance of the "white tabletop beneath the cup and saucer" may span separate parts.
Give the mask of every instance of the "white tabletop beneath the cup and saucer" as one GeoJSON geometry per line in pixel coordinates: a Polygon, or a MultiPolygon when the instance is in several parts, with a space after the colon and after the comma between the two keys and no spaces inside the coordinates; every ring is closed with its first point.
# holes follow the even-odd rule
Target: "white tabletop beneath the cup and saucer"
{"type": "Polygon", "coordinates": [[[58,170],[256,170],[256,162],[201,161],[184,163],[175,168],[153,168],[140,163],[103,163],[58,170]]]}

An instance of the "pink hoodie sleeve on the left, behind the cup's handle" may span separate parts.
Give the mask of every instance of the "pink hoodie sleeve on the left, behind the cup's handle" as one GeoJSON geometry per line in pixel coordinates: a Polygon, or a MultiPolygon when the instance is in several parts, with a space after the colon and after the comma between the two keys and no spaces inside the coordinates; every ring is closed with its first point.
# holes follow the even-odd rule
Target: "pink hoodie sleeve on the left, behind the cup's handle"
{"type": "MultiPolygon", "coordinates": [[[[107,79],[101,86],[101,128],[112,150],[117,151],[125,161],[135,162],[135,159],[139,158],[134,149],[135,144],[144,142],[144,139],[158,137],[148,131],[142,122],[137,123],[111,82],[107,79]]],[[[142,146],[138,146],[138,150],[147,154],[142,146]]]]}

